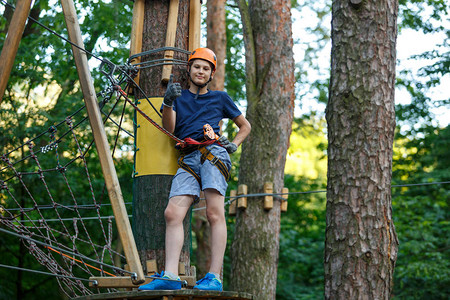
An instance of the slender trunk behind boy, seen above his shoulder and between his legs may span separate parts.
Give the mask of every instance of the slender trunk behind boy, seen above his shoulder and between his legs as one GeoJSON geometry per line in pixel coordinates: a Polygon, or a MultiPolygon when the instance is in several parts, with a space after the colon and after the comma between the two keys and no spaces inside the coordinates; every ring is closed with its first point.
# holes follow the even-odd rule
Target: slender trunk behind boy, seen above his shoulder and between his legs
{"type": "MultiPolygon", "coordinates": [[[[209,84],[211,90],[223,91],[225,83],[225,55],[226,55],[226,31],[225,31],[225,3],[226,0],[209,0],[207,5],[206,29],[207,47],[216,53],[217,69],[214,79],[209,84]]],[[[205,200],[201,200],[196,206],[205,208],[205,200]]],[[[206,210],[197,210],[194,214],[192,231],[195,232],[197,241],[197,277],[202,278],[208,273],[211,265],[211,228],[206,218],[206,210]]]]}

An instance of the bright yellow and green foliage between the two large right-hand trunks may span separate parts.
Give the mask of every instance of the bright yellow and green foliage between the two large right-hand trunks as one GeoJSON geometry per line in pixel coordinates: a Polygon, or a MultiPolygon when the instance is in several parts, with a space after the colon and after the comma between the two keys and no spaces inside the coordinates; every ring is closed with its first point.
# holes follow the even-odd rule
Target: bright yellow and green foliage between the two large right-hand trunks
{"type": "Polygon", "coordinates": [[[292,194],[281,217],[277,299],[323,298],[325,148],[323,119],[313,113],[295,120],[284,179],[292,194]],[[304,161],[289,168],[297,158],[304,161]]]}

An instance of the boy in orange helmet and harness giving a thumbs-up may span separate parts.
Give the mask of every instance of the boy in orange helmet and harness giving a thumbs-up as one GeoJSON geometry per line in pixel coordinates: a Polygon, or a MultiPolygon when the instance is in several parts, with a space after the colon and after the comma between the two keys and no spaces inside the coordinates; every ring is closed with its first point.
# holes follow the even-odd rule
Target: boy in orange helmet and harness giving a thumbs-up
{"type": "Polygon", "coordinates": [[[214,52],[198,48],[188,60],[189,89],[181,90],[179,83],[172,82],[172,77],[167,86],[162,106],[163,127],[180,139],[195,140],[196,144],[180,149],[179,169],[172,180],[169,203],[164,212],[165,271],[155,275],[152,282],[139,290],[181,289],[181,282],[176,280],[179,279],[178,261],[184,242],[183,220],[200,191],[205,194],[206,215],[211,226],[211,266],[194,289],[223,289],[219,274],[227,241],[224,199],[231,169],[229,153],[237,150],[250,133],[251,126],[227,93],[208,90],[215,70],[214,52]],[[233,120],[239,128],[232,142],[225,136],[218,136],[219,122],[223,118],[233,120]]]}

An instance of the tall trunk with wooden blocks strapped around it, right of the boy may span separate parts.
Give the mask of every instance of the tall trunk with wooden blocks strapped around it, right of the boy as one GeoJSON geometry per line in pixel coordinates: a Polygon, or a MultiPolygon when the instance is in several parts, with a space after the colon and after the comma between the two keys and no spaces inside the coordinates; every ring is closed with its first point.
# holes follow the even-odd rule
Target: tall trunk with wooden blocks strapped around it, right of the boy
{"type": "MultiPolygon", "coordinates": [[[[238,1],[244,25],[247,119],[252,132],[243,144],[239,184],[262,193],[265,182],[281,192],[294,113],[291,2],[238,1]]],[[[280,201],[265,211],[263,197],[248,199],[236,216],[231,288],[256,299],[275,299],[280,201]]]]}

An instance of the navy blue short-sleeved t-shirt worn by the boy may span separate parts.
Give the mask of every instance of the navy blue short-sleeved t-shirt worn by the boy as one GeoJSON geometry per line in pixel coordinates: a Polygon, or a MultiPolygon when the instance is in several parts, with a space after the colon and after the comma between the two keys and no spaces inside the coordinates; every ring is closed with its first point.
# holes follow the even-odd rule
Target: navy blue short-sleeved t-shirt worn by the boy
{"type": "Polygon", "coordinates": [[[222,91],[208,91],[195,99],[195,94],[183,90],[174,101],[173,110],[177,116],[175,136],[198,141],[203,140],[203,125],[211,125],[214,132],[219,134],[219,122],[222,119],[234,119],[242,114],[230,96],[222,91]]]}

